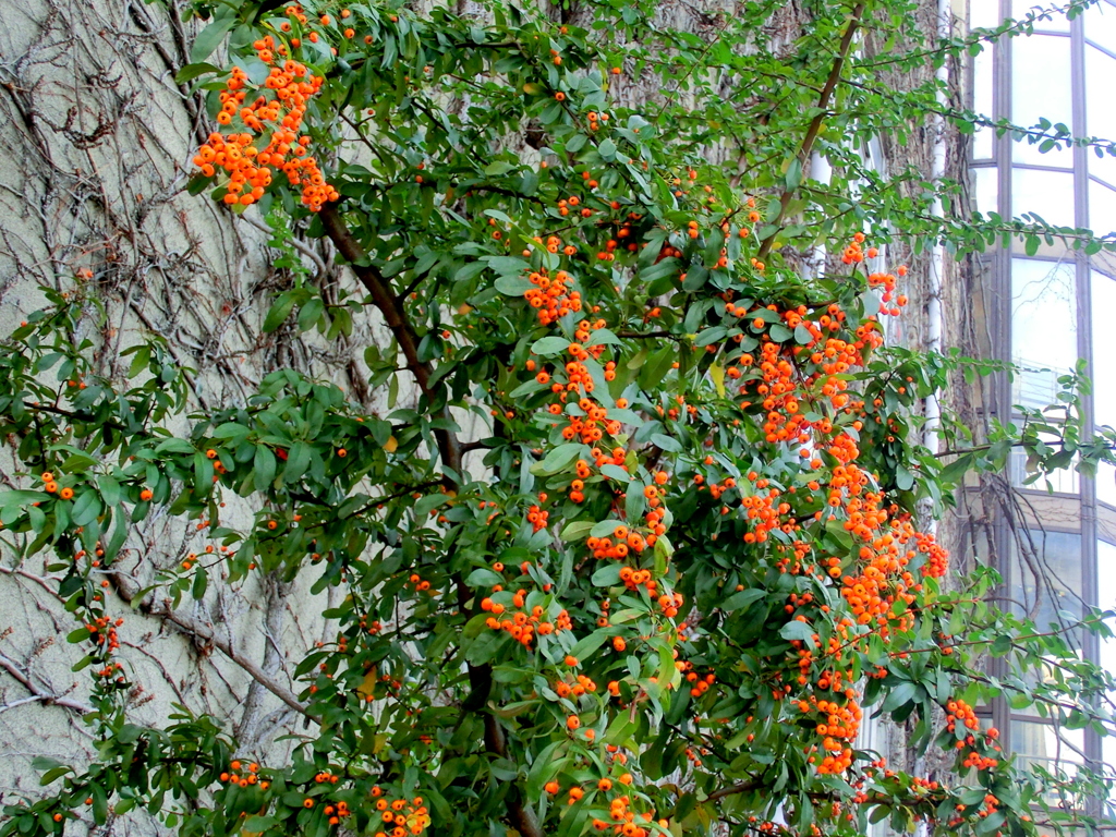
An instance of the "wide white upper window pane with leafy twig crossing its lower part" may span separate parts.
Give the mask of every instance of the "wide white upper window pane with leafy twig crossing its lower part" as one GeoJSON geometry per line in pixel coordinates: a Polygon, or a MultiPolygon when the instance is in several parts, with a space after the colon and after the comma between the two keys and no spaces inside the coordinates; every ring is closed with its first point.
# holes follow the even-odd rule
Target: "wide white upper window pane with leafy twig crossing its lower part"
{"type": "MultiPolygon", "coordinates": [[[[1072,124],[1069,75],[1069,38],[1032,35],[1011,40],[1011,121],[1022,127],[1037,125],[1043,116],[1054,124],[1072,124]]],[[[1016,163],[1074,165],[1071,148],[1039,153],[1023,140],[1012,144],[1016,163]]]]}

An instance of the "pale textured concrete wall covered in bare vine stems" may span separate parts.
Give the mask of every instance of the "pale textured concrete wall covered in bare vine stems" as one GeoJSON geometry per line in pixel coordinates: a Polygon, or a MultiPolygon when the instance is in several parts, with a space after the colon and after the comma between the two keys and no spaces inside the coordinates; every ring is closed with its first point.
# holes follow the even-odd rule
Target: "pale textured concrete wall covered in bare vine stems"
{"type": "MultiPolygon", "coordinates": [[[[353,382],[359,384],[368,329],[335,345],[283,330],[261,337],[262,315],[289,273],[270,267],[275,253],[258,214],[254,222],[234,220],[184,191],[192,147],[208,127],[199,100],[173,81],[193,33],[176,22],[174,6],[0,4],[0,334],[41,306],[39,286],[70,289],[78,270],[92,270],[88,292],[106,312],[90,305],[75,337],[94,343],[97,372],[118,384],[128,368],[119,353],[153,331],[196,371],[194,407],[242,403],[263,374],[281,366],[331,372],[355,397],[367,397],[353,382]]],[[[306,263],[333,277],[330,253],[311,252],[306,263]]],[[[15,471],[4,446],[0,481],[18,482],[15,471]]],[[[242,520],[249,511],[240,510],[242,520]]],[[[286,658],[324,638],[317,614],[327,596],[257,578],[241,589],[211,585],[203,602],[184,603],[173,619],[128,607],[125,599],[160,567],[200,546],[192,523],[165,513],[146,520],[125,546],[124,577],[114,579],[107,600],[126,617],[121,658],[137,683],[131,712],[152,724],[166,722],[172,703],[211,712],[237,732],[246,753],[262,760],[299,720],[263,682],[289,687],[286,658]]],[[[80,764],[92,749],[81,721],[88,673],[70,671],[80,657],[65,641],[73,617],[45,580],[45,564],[21,561],[0,546],[3,801],[36,792],[35,756],[80,764]]],[[[155,829],[140,814],[108,830],[155,829]]]]}

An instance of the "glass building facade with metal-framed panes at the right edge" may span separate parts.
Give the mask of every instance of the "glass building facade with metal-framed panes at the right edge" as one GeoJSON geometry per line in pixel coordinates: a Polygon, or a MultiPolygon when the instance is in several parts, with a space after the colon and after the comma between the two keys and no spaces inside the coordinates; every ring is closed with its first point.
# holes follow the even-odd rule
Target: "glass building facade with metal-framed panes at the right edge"
{"type": "MultiPolygon", "coordinates": [[[[1026,2],[972,0],[969,22],[989,28],[1027,11],[1026,2]]],[[[1108,0],[1074,19],[1039,18],[1032,32],[985,48],[971,70],[969,94],[979,114],[1019,126],[1046,119],[1077,137],[1116,136],[1116,4],[1108,0]]],[[[1098,156],[1093,147],[1047,145],[1010,132],[997,136],[989,126],[978,129],[971,143],[977,210],[1006,219],[1032,213],[1101,234],[1116,230],[1116,157],[1098,156]]],[[[999,382],[984,405],[988,415],[1019,423],[1019,406],[1051,404],[1058,377],[1084,362],[1093,382],[1083,396],[1087,423],[1116,426],[1116,329],[1107,321],[1116,310],[1116,260],[1058,241],[1028,253],[1017,241],[987,251],[978,263],[989,344],[1020,368],[999,382]]],[[[1001,597],[1039,629],[1071,626],[1089,606],[1116,606],[1116,471],[1104,465],[1095,479],[1064,471],[1049,487],[1042,480],[1024,484],[1024,456],[1014,453],[1008,483],[1018,513],[1001,514],[993,525],[1001,597]]],[[[1081,632],[1070,636],[1084,657],[1116,672],[1116,644],[1081,632]]],[[[1083,762],[1116,762],[1113,740],[1090,730],[1058,728],[1007,701],[990,713],[1008,748],[1041,768],[1072,773],[1083,762]]]]}

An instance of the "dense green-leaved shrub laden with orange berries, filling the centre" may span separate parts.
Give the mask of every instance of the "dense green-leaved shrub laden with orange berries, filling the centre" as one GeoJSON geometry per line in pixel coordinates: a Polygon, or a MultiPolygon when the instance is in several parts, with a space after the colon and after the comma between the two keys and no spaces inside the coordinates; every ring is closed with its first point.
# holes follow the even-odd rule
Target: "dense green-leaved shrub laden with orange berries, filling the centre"
{"type": "MultiPolygon", "coordinates": [[[[963,252],[1001,234],[1029,251],[1056,234],[1086,252],[1116,244],[1037,217],[934,217],[941,183],[872,167],[863,150],[884,132],[895,147],[925,133],[936,93],[917,80],[933,77],[926,56],[974,41],[915,44],[914,9],[873,8],[873,49],[913,89],[888,89],[866,52],[819,105],[849,31],[845,7],[811,6],[772,51],[770,4],[724,16],[713,39],[638,3],[590,4],[566,27],[502,2],[483,22],[360,3],[344,18],[311,4],[304,21],[266,6],[199,7],[214,17],[179,80],[220,71],[205,60],[228,40],[244,69],[238,104],[280,100],[251,47],[266,36],[320,78],[291,131],[340,200],[311,213],[272,166],[260,202],[286,282],[262,330],[294,340],[314,375],[244,372],[230,403],[204,389],[201,404],[184,378],[209,378],[185,376],[152,339],[131,350],[131,382],[99,381],[93,347],[70,345],[89,297],[56,291],[0,344],[0,420],[20,460],[19,490],[0,496],[3,537],[20,557],[56,554],[47,577],[76,619],[79,665],[108,671],[89,690],[93,764],[48,767],[69,797],[13,806],[4,837],[54,834],[56,809],[69,816],[85,798],[98,822],[143,806],[190,835],[327,837],[379,828],[374,800],[400,800],[411,817],[416,797],[433,819],[424,835],[511,824],[522,837],[577,837],[623,795],[633,816],[675,834],[744,837],[778,811],[796,834],[852,837],[869,818],[907,831],[937,817],[960,834],[1026,837],[1010,805],[977,812],[989,791],[1026,789],[1019,811],[1042,798],[1010,759],[989,756],[997,764],[974,771],[972,792],[960,777],[945,789],[883,776],[854,749],[857,712],[910,721],[915,749],[949,732],[932,702],[959,695],[1046,699],[1051,713],[1068,702],[1062,727],[1101,724],[1089,713],[1105,677],[1080,643],[1021,638],[1046,632],[981,602],[991,575],[943,593],[941,556],[913,521],[922,501],[944,506],[952,484],[1002,469],[1012,450],[1041,469],[1109,461],[1108,446],[1084,435],[1087,396],[1071,381],[1057,422],[1021,412],[1024,427],[993,429],[987,449],[939,465],[918,444],[918,402],[956,371],[983,374],[983,362],[874,345],[883,317],[865,271],[804,276],[801,259],[839,253],[862,230],[865,247],[888,252],[939,240],[963,252]],[[613,66],[620,74],[600,70],[613,66]],[[727,78],[748,92],[731,107],[727,78]],[[833,175],[812,190],[801,144],[816,117],[833,175]],[[730,165],[711,164],[725,137],[730,165]],[[317,263],[334,252],[365,269],[359,282],[317,263]],[[283,328],[292,315],[297,331],[283,328]],[[85,389],[69,384],[79,377],[85,389]],[[58,490],[39,490],[47,470],[58,490]],[[285,608],[323,637],[306,651],[269,646],[283,676],[268,687],[301,720],[256,782],[220,779],[243,777],[247,757],[204,715],[182,708],[170,724],[136,725],[132,672],[109,667],[98,585],[148,514],[183,522],[193,558],[152,561],[162,569],[132,599],[141,614],[170,603],[179,618],[191,597],[281,585],[285,608]],[[978,654],[999,655],[997,677],[973,676],[978,654]],[[1041,666],[1058,673],[1021,676],[1041,666]],[[852,763],[828,772],[825,759],[846,747],[852,763]]],[[[201,87],[213,114],[221,87],[201,87]]],[[[273,129],[241,115],[227,136],[273,129]]],[[[1059,126],[1040,131],[1040,147],[1062,142],[1059,126]]],[[[222,666],[247,658],[215,641],[213,653],[229,656],[222,666]]],[[[964,733],[944,738],[943,763],[959,771],[995,752],[979,735],[971,753],[955,750],[964,733]]]]}

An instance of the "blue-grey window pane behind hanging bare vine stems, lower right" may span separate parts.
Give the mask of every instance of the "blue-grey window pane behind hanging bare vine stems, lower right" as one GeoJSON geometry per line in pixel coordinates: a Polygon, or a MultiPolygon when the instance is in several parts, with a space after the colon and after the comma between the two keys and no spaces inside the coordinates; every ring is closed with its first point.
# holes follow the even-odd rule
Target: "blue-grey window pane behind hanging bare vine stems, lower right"
{"type": "MultiPolygon", "coordinates": [[[[1011,605],[1016,614],[1031,619],[1039,631],[1080,618],[1080,535],[1028,529],[1012,539],[1011,554],[1011,605]]],[[[1067,639],[1075,643],[1079,636],[1075,632],[1067,639]]]]}

